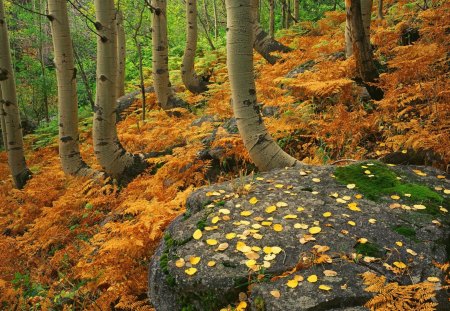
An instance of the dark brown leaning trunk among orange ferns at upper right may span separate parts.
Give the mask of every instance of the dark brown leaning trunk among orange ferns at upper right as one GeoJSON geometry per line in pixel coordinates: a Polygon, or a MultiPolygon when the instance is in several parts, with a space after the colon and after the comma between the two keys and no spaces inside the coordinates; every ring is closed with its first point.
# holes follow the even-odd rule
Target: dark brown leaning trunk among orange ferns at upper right
{"type": "Polygon", "coordinates": [[[377,82],[379,78],[378,70],[373,61],[373,53],[367,36],[364,32],[364,23],[361,13],[360,0],[347,0],[347,23],[351,24],[353,53],[356,59],[356,68],[361,80],[366,83],[367,90],[372,98],[380,100],[383,92],[376,86],[367,83],[377,82]],[[347,3],[349,2],[349,3],[347,3]]]}

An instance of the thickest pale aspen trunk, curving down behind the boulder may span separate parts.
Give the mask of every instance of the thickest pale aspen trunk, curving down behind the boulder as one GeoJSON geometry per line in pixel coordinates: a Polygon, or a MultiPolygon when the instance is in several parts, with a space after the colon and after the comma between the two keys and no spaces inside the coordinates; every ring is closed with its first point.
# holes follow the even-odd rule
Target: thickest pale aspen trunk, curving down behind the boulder
{"type": "Polygon", "coordinates": [[[226,0],[227,66],[233,111],[244,145],[260,170],[294,166],[296,159],[273,141],[256,101],[252,41],[254,7],[248,0],[226,0]]]}

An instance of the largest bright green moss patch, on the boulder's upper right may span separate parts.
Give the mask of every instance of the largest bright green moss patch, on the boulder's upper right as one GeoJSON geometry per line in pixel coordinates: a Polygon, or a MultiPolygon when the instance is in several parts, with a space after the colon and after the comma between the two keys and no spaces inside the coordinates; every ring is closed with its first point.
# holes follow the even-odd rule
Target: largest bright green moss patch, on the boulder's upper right
{"type": "Polygon", "coordinates": [[[400,176],[380,162],[338,167],[334,175],[343,184],[355,184],[358,191],[372,201],[379,201],[390,195],[399,195],[411,204],[425,205],[427,208],[419,212],[432,215],[440,215],[439,207],[449,204],[448,200],[427,186],[403,182],[399,179],[400,176]]]}

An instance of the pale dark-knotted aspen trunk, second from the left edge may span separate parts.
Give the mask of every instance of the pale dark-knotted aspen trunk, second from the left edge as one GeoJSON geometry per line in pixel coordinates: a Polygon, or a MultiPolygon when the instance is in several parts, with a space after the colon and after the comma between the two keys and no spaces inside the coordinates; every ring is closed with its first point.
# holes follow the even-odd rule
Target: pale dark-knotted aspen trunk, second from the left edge
{"type": "Polygon", "coordinates": [[[72,40],[70,36],[67,3],[65,0],[48,0],[56,78],[58,80],[59,157],[66,174],[90,176],[94,171],[80,155],[78,139],[78,98],[72,40]]]}

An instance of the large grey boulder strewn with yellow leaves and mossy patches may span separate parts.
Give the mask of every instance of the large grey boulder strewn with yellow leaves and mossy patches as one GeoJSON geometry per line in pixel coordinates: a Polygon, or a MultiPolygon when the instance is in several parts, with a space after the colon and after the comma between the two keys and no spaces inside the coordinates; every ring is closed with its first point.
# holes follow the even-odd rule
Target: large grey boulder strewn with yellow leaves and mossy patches
{"type": "Polygon", "coordinates": [[[432,168],[379,162],[203,188],[150,263],[150,301],[158,311],[367,310],[376,293],[362,274],[373,272],[399,285],[429,280],[430,302],[448,310],[433,263],[449,260],[448,189],[432,168]]]}

